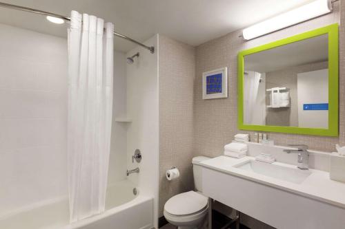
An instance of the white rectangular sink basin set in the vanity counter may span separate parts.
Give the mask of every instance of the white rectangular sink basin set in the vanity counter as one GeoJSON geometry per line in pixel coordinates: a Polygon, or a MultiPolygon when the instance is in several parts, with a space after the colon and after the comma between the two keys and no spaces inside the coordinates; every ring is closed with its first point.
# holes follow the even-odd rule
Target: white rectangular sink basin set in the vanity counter
{"type": "Polygon", "coordinates": [[[289,168],[277,164],[257,162],[255,160],[248,160],[241,164],[237,164],[234,167],[265,175],[267,177],[273,177],[275,179],[282,179],[286,182],[293,182],[295,184],[301,184],[309,175],[311,175],[311,171],[308,170],[300,170],[299,168],[289,168]]]}

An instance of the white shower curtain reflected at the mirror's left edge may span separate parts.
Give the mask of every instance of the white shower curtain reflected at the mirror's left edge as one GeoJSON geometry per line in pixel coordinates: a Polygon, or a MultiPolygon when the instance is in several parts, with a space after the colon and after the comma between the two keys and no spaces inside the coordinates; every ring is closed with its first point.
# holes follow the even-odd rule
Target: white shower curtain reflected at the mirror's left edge
{"type": "Polygon", "coordinates": [[[244,123],[253,124],[252,120],[255,115],[253,108],[257,100],[261,74],[251,71],[247,73],[244,75],[244,123]]]}

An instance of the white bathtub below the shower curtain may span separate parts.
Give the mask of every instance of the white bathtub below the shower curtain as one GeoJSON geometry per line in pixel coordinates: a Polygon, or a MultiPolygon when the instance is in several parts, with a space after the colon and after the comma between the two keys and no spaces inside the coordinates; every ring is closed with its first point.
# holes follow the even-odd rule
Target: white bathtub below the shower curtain
{"type": "Polygon", "coordinates": [[[150,229],[153,227],[153,199],[133,194],[134,184],[118,182],[107,190],[106,212],[77,223],[68,223],[68,199],[37,204],[0,218],[6,229],[150,229]]]}

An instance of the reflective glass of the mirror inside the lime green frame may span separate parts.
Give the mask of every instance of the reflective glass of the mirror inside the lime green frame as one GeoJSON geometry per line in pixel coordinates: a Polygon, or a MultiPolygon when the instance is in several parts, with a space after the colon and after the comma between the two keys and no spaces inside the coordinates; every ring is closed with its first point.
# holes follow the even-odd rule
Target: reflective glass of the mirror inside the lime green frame
{"type": "Polygon", "coordinates": [[[244,124],[328,129],[328,34],[244,56],[244,124]]]}

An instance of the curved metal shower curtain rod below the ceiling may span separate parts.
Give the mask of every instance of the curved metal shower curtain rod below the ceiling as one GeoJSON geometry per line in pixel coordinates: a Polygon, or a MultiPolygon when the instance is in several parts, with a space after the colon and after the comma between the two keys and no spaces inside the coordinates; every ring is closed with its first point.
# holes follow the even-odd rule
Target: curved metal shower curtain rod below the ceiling
{"type": "MultiPolygon", "coordinates": [[[[27,7],[23,7],[23,6],[12,5],[12,4],[9,4],[9,3],[0,2],[0,7],[10,8],[10,9],[13,9],[13,10],[21,10],[21,11],[25,11],[25,12],[32,12],[34,14],[41,14],[41,15],[46,15],[46,16],[51,16],[51,17],[57,17],[59,19],[63,19],[64,21],[70,21],[69,17],[63,16],[63,15],[60,15],[60,14],[55,14],[55,13],[46,12],[46,11],[43,11],[43,10],[27,8],[27,7]]],[[[135,41],[134,39],[131,39],[130,37],[125,36],[123,34],[119,34],[118,32],[114,32],[114,35],[115,36],[119,36],[122,39],[126,39],[127,41],[131,41],[132,43],[136,43],[137,45],[140,45],[141,47],[146,48],[146,50],[149,50],[151,53],[155,53],[155,47],[153,47],[153,46],[144,45],[143,43],[140,43],[139,41],[135,41]]]]}

